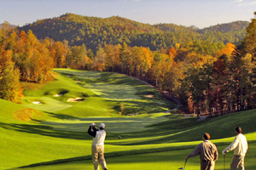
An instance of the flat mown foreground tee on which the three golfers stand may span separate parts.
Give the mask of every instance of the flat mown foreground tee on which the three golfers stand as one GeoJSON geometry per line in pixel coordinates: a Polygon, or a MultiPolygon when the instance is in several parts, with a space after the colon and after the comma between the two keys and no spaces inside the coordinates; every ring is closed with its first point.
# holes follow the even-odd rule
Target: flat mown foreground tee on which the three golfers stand
{"type": "MultiPolygon", "coordinates": [[[[256,162],[253,161],[256,156],[256,144],[249,144],[250,150],[248,150],[245,165],[247,170],[254,170],[256,162]]],[[[219,157],[216,161],[216,170],[224,169],[224,155],[221,154],[221,150],[224,146],[218,147],[219,157]]],[[[185,156],[187,156],[192,150],[177,150],[177,151],[165,151],[158,153],[150,153],[143,155],[131,155],[131,156],[118,156],[108,157],[108,169],[148,169],[148,170],[166,170],[166,169],[177,169],[184,167],[185,156]]],[[[230,169],[230,162],[232,160],[233,152],[226,155],[225,168],[230,169]]],[[[61,164],[54,164],[49,166],[39,167],[26,167],[26,170],[59,170],[59,169],[93,169],[93,163],[91,160],[87,161],[73,161],[61,164]]],[[[189,158],[187,161],[186,170],[200,169],[199,156],[189,158]]]]}

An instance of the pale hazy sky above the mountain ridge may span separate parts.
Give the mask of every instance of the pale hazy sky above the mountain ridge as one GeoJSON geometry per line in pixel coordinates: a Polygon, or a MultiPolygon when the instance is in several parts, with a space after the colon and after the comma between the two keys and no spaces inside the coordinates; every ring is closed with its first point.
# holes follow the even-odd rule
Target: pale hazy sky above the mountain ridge
{"type": "Polygon", "coordinates": [[[256,0],[0,0],[0,23],[24,26],[73,13],[108,18],[119,15],[148,23],[204,28],[236,20],[250,21],[256,0]]]}

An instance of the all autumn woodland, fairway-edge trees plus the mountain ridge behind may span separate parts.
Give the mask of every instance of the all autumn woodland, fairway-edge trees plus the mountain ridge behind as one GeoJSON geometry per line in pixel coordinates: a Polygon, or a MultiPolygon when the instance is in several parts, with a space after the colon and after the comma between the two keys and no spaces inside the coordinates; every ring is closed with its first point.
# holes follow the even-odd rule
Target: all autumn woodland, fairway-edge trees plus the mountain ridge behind
{"type": "Polygon", "coordinates": [[[175,95],[188,113],[256,108],[256,19],[246,26],[237,21],[199,30],[76,14],[38,20],[22,31],[6,22],[0,99],[20,103],[19,81],[46,82],[52,68],[68,67],[137,77],[175,95]]]}

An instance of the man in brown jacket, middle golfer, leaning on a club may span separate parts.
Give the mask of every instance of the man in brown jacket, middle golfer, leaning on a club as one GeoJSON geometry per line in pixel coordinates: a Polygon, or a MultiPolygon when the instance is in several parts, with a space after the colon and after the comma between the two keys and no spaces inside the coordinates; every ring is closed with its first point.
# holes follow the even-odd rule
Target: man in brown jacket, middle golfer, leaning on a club
{"type": "Polygon", "coordinates": [[[209,133],[204,133],[202,136],[203,143],[198,144],[187,157],[194,157],[200,155],[201,160],[201,170],[214,170],[215,161],[218,159],[218,150],[215,144],[212,144],[209,133]]]}

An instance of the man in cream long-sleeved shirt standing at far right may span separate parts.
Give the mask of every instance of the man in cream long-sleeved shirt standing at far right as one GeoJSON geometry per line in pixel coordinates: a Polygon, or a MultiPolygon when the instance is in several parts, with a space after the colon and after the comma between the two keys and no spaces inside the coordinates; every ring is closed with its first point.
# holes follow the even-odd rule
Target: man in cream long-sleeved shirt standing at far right
{"type": "Polygon", "coordinates": [[[222,154],[231,150],[234,150],[234,156],[230,164],[230,170],[236,170],[237,167],[244,170],[244,157],[248,150],[248,144],[246,137],[241,133],[241,127],[236,127],[236,138],[228,147],[222,150],[222,154]]]}

